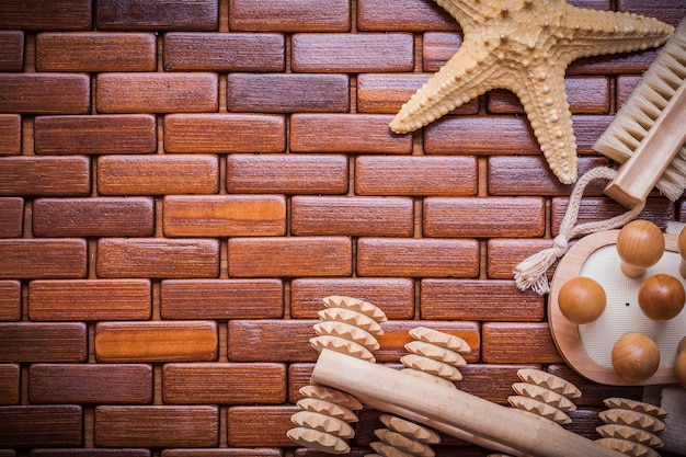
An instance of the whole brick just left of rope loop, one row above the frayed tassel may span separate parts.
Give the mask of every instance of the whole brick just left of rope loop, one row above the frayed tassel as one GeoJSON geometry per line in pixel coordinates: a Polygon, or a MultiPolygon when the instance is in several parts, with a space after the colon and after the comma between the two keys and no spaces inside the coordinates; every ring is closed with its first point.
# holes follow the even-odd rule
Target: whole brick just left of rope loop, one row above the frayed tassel
{"type": "Polygon", "coordinates": [[[542,198],[449,198],[424,199],[425,237],[524,238],[546,233],[546,202],[542,198]]]}

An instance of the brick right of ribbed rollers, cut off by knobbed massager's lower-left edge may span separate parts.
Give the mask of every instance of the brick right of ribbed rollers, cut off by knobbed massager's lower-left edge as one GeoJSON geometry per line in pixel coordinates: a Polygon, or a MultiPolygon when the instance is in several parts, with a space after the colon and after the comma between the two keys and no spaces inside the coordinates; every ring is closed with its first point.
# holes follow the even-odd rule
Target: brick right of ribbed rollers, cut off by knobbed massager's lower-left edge
{"type": "Polygon", "coordinates": [[[563,362],[547,322],[487,322],[481,357],[495,364],[563,362]]]}

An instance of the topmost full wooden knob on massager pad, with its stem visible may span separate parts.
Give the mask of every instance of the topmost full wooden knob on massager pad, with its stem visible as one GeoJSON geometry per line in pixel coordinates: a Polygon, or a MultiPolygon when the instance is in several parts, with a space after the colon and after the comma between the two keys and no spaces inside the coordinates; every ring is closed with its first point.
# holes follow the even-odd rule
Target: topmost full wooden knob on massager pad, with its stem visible
{"type": "Polygon", "coordinates": [[[653,222],[639,219],[627,224],[617,236],[621,272],[629,277],[643,275],[662,258],[664,248],[664,235],[653,222]]]}

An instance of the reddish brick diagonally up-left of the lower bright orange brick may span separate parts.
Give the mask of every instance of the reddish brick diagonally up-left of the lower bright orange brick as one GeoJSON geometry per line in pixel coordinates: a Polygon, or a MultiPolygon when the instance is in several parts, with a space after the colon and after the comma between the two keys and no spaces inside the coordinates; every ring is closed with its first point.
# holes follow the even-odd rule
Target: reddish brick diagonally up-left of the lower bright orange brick
{"type": "Polygon", "coordinates": [[[32,281],[28,317],[36,321],[149,319],[147,279],[32,281]]]}

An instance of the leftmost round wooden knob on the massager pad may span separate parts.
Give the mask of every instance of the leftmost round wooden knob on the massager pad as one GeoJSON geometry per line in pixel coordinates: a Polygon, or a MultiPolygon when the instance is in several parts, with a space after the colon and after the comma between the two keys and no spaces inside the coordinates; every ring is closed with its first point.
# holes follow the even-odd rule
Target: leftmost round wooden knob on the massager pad
{"type": "Polygon", "coordinates": [[[593,322],[603,315],[607,296],[595,279],[576,276],[565,282],[558,294],[560,312],[575,324],[593,322]]]}

